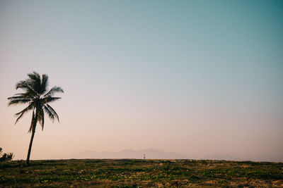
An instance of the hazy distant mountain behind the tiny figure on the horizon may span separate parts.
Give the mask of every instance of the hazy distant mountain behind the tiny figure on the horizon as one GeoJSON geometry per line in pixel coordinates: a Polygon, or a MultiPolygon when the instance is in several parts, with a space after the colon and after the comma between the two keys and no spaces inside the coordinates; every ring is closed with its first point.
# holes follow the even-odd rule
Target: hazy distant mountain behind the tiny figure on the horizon
{"type": "Polygon", "coordinates": [[[146,155],[148,159],[185,159],[188,158],[180,153],[159,151],[157,149],[142,149],[133,150],[125,149],[121,151],[111,152],[111,151],[82,151],[79,153],[74,153],[68,158],[144,158],[146,155]]]}

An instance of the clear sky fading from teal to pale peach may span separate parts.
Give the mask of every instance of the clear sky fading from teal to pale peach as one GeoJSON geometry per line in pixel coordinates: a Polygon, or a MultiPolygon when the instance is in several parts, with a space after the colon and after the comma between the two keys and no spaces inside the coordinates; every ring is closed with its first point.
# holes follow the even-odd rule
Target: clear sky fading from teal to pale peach
{"type": "MultiPolygon", "coordinates": [[[[25,159],[31,113],[8,107],[36,71],[60,123],[31,159],[159,149],[283,161],[283,1],[0,1],[0,147],[25,159]]],[[[142,158],[142,156],[141,156],[142,158]]]]}

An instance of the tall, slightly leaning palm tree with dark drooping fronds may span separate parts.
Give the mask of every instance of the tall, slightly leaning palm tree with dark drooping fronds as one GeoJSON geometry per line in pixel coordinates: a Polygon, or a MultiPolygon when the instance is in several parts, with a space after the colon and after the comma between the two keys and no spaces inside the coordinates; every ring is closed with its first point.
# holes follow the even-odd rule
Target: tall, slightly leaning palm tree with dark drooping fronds
{"type": "MultiPolygon", "coordinates": [[[[20,120],[25,113],[28,111],[33,111],[33,117],[30,123],[30,129],[28,132],[31,132],[30,145],[28,147],[28,157],[26,163],[30,163],[30,151],[31,146],[33,145],[33,137],[35,136],[35,127],[37,122],[40,123],[42,130],[45,123],[45,113],[49,118],[54,122],[55,119],[59,122],[59,117],[54,111],[54,109],[49,105],[52,101],[57,101],[61,97],[54,97],[53,95],[57,92],[64,92],[61,87],[52,87],[49,92],[47,92],[48,87],[48,76],[40,75],[38,73],[28,74],[28,79],[21,80],[16,84],[16,89],[23,89],[23,93],[15,94],[14,96],[8,97],[8,106],[16,104],[28,104],[23,111],[16,113],[18,116],[16,123],[20,120]]],[[[15,123],[15,124],[16,124],[15,123]]]]}

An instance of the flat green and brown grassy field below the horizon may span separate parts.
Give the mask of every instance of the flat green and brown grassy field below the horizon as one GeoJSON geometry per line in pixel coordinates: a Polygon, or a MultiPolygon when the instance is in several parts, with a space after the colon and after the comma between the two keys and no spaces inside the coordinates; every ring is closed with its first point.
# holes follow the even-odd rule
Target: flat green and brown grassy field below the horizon
{"type": "Polygon", "coordinates": [[[283,163],[85,159],[6,161],[0,187],[283,187],[283,163]]]}

